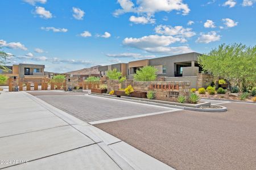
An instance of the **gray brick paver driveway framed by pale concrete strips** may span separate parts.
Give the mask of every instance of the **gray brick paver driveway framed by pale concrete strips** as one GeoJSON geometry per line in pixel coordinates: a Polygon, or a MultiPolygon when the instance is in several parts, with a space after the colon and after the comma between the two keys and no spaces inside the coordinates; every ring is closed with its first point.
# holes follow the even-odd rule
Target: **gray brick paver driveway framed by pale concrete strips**
{"type": "Polygon", "coordinates": [[[172,110],[89,95],[36,97],[86,122],[172,110]]]}

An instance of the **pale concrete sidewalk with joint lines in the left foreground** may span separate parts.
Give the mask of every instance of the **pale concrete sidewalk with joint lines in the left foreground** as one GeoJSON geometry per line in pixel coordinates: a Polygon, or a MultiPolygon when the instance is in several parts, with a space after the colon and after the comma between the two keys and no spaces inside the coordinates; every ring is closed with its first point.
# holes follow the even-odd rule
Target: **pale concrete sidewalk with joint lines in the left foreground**
{"type": "Polygon", "coordinates": [[[172,169],[27,94],[0,94],[0,169],[172,169]]]}

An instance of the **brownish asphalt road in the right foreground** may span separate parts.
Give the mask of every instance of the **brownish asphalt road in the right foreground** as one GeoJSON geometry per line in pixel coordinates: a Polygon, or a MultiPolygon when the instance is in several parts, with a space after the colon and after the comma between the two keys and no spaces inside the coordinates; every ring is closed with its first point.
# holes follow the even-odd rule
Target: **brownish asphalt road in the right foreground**
{"type": "Polygon", "coordinates": [[[95,126],[175,169],[256,169],[256,105],[222,105],[95,126]]]}

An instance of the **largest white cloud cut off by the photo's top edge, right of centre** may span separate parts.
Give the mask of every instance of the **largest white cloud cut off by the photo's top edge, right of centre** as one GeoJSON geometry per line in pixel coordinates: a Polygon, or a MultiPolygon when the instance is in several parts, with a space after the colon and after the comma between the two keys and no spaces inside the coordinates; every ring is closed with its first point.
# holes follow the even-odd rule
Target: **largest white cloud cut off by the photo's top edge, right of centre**
{"type": "Polygon", "coordinates": [[[115,10],[114,16],[126,12],[153,15],[155,12],[170,12],[172,10],[182,11],[183,15],[187,15],[190,11],[188,5],[183,3],[183,0],[138,0],[137,6],[131,0],[118,0],[118,3],[122,8],[115,10]]]}

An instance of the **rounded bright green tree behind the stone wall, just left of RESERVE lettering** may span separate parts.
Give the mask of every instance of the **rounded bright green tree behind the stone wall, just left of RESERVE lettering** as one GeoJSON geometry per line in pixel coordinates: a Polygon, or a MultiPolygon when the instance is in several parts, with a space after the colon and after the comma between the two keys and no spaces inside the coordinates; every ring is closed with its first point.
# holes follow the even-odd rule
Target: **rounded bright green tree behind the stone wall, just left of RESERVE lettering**
{"type": "Polygon", "coordinates": [[[144,66],[134,74],[136,81],[154,81],[158,70],[154,66],[144,66]]]}

